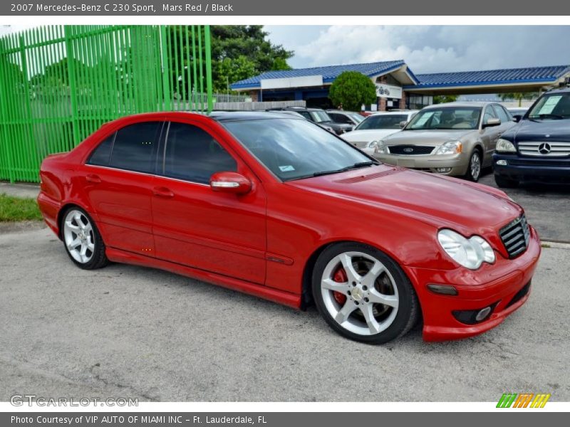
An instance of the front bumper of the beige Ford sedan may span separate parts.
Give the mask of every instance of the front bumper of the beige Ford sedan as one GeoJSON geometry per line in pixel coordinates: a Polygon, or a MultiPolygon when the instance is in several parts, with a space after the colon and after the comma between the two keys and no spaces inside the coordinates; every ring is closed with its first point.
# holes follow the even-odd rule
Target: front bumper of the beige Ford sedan
{"type": "Polygon", "coordinates": [[[460,176],[467,172],[469,157],[465,153],[444,154],[444,155],[415,155],[406,156],[400,154],[380,154],[374,153],[373,157],[386,164],[407,167],[408,169],[419,169],[426,172],[435,172],[442,175],[460,176]],[[437,168],[451,168],[447,172],[437,172],[437,168]]]}

